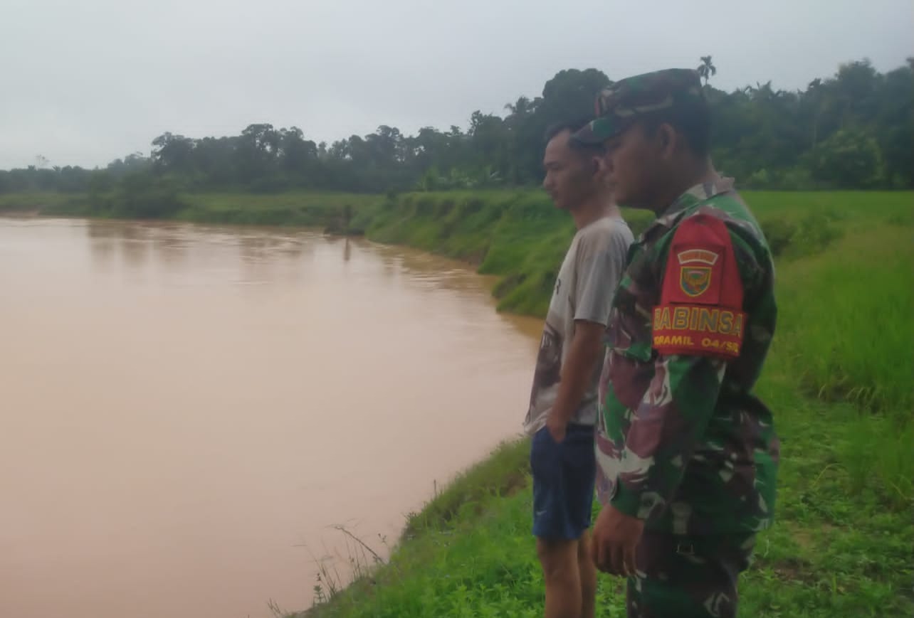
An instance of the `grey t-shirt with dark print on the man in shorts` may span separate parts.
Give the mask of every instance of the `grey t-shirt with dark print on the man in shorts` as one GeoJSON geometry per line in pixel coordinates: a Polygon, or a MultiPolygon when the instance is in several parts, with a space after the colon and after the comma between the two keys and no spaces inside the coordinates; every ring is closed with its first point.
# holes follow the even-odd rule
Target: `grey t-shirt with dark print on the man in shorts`
{"type": "MultiPolygon", "coordinates": [[[[536,434],[546,424],[556,401],[562,365],[574,337],[575,320],[584,319],[603,326],[608,323],[612,296],[622,277],[625,256],[633,240],[629,226],[621,217],[612,216],[585,225],[571,241],[558,271],[539,344],[530,407],[524,420],[524,431],[528,435],[536,434]]],[[[596,422],[601,370],[602,355],[571,423],[592,425],[596,422]]]]}

